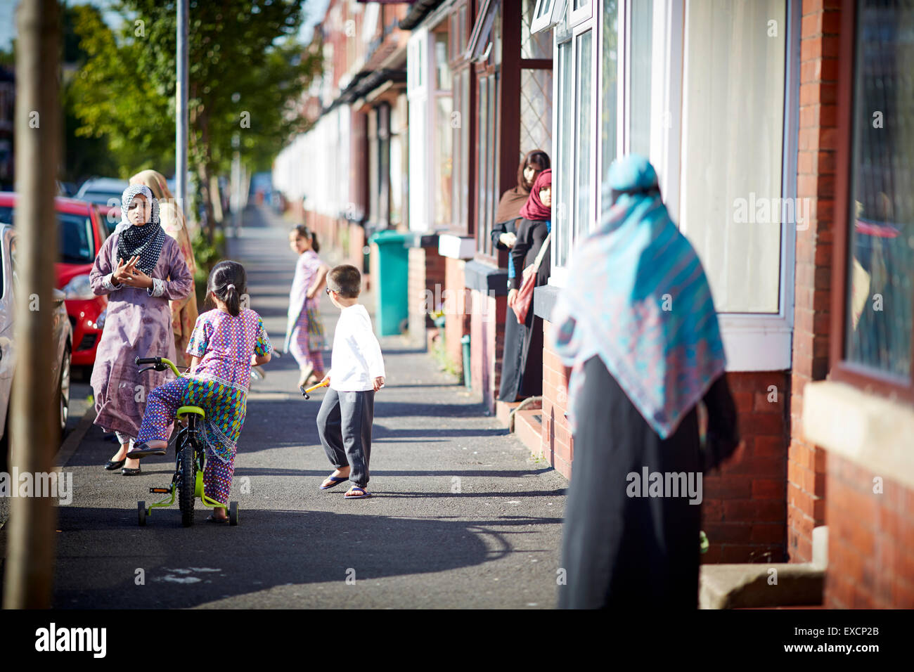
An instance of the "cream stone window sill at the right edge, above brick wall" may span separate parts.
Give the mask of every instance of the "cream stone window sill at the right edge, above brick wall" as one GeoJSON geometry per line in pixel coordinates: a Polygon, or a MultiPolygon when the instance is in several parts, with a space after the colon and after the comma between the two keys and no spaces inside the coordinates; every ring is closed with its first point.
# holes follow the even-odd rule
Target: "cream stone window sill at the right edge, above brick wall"
{"type": "Polygon", "coordinates": [[[914,488],[914,407],[832,380],[807,383],[802,397],[809,441],[914,488]]]}

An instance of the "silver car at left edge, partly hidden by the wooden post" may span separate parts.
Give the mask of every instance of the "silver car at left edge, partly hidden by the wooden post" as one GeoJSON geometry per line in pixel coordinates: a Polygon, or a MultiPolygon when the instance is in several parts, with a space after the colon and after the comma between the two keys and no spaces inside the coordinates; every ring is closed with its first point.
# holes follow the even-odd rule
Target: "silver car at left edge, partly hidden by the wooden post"
{"type": "MultiPolygon", "coordinates": [[[[0,219],[3,221],[3,219],[0,219]]],[[[18,347],[14,338],[16,301],[28,301],[28,295],[18,286],[16,276],[16,230],[0,223],[0,463],[6,462],[9,450],[9,400],[16,373],[18,347]]],[[[67,318],[64,293],[54,290],[54,349],[51,357],[52,375],[48,391],[59,409],[60,431],[67,427],[69,416],[69,368],[73,347],[73,330],[67,318]]],[[[5,471],[5,468],[2,470],[5,471]]]]}

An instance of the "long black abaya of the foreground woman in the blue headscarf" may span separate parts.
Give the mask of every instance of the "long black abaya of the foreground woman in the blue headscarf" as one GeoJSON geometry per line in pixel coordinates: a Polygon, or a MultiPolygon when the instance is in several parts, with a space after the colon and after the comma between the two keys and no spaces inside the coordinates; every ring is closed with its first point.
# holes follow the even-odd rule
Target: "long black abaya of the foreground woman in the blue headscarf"
{"type": "Polygon", "coordinates": [[[629,474],[696,474],[739,443],[725,376],[708,389],[707,449],[695,408],[667,439],[651,429],[600,357],[583,369],[575,405],[574,467],[562,540],[558,606],[695,609],[700,504],[689,496],[629,496],[629,474]]]}

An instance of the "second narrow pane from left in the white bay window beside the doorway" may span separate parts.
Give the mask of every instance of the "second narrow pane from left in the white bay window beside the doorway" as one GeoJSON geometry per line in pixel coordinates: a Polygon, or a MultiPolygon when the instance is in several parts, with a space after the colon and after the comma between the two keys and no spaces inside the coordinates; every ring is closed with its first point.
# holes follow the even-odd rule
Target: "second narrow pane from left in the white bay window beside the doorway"
{"type": "MultiPolygon", "coordinates": [[[[578,72],[575,80],[577,85],[576,107],[577,133],[575,133],[575,183],[574,183],[574,239],[590,230],[590,203],[593,201],[593,170],[590,165],[591,146],[593,144],[593,131],[590,127],[590,73],[591,47],[593,31],[582,33],[575,40],[578,58],[578,72]]],[[[613,116],[615,116],[613,114],[613,116]]],[[[614,134],[613,134],[614,136],[614,134]]],[[[572,240],[572,245],[574,240],[572,240]]]]}

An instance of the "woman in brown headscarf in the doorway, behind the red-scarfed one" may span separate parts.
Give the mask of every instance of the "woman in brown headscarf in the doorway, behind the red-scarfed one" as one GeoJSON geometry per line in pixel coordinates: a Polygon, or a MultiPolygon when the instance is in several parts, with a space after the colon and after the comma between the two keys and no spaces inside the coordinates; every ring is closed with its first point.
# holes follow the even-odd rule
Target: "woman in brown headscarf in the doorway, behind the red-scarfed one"
{"type": "MultiPolygon", "coordinates": [[[[524,160],[517,167],[517,186],[512,187],[502,194],[495,211],[495,223],[492,227],[492,244],[497,250],[511,251],[517,240],[517,224],[522,219],[521,208],[526,205],[530,196],[530,189],[536,182],[537,176],[549,167],[549,155],[542,150],[535,149],[528,152],[524,160]]],[[[515,265],[508,257],[508,290],[515,277],[515,265]]],[[[520,379],[518,370],[519,355],[522,346],[520,325],[512,319],[513,312],[507,309],[505,320],[505,349],[502,353],[501,383],[498,389],[498,400],[514,401],[517,397],[517,382],[520,379]]]]}

